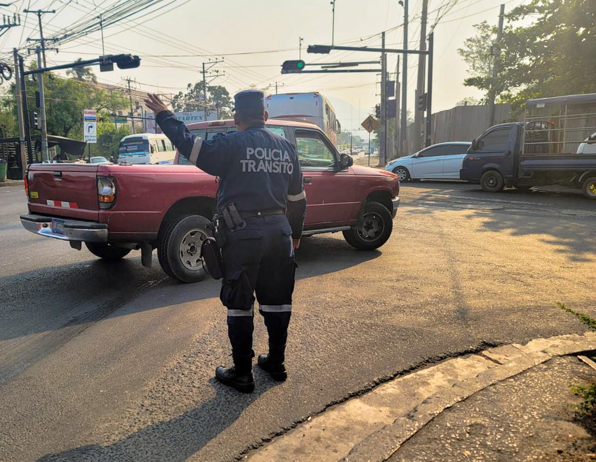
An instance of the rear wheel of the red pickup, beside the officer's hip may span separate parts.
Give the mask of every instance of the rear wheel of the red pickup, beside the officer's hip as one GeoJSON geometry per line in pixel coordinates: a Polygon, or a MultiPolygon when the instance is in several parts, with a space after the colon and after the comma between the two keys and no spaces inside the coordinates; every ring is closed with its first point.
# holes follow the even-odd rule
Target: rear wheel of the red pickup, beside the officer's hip
{"type": "Polygon", "coordinates": [[[157,246],[157,258],[164,272],[180,282],[197,282],[205,270],[201,261],[201,244],[211,236],[210,221],[200,215],[186,215],[174,220],[157,246]]]}

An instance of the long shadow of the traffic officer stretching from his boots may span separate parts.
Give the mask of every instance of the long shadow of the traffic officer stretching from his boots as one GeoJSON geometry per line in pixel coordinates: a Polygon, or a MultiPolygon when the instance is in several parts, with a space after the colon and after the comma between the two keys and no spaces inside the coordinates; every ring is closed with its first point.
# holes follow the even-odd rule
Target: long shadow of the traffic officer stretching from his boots
{"type": "MultiPolygon", "coordinates": [[[[277,385],[273,380],[259,380],[258,383],[253,393],[241,394],[211,379],[215,397],[193,410],[165,422],[151,424],[112,444],[85,445],[44,455],[38,462],[185,461],[238,419],[260,395],[277,385]],[[234,401],[235,405],[230,406],[230,401],[234,401]]],[[[150,409],[145,411],[151,413],[150,409]]]]}

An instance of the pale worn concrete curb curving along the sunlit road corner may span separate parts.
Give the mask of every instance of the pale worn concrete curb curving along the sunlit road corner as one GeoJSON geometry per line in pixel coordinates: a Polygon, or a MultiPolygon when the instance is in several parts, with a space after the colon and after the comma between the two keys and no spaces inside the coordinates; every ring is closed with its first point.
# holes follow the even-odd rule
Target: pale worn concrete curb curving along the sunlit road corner
{"type": "Polygon", "coordinates": [[[552,357],[596,349],[596,332],[489,348],[397,377],[328,408],[244,460],[383,461],[446,408],[552,357]]]}

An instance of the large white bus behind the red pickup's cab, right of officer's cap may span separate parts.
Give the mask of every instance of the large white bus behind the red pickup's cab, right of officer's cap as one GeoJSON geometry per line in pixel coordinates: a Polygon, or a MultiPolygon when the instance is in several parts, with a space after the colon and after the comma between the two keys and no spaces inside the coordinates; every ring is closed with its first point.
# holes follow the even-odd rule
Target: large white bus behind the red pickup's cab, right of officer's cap
{"type": "Polygon", "coordinates": [[[265,98],[265,109],[269,118],[313,123],[337,145],[337,133],[342,132],[342,126],[331,102],[319,92],[269,95],[265,98]]]}

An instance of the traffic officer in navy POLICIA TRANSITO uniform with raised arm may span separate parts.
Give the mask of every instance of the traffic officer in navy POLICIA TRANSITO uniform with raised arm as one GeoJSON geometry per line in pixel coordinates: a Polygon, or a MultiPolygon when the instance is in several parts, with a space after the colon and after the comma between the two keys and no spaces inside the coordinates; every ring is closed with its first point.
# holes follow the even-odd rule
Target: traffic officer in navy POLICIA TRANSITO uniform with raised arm
{"type": "Polygon", "coordinates": [[[228,336],[234,366],[219,366],[217,379],[252,392],[254,294],[269,334],[269,354],[257,363],[275,380],[285,380],[285,344],[294,291],[294,249],[300,245],[306,195],[294,146],[265,129],[263,92],[234,96],[238,131],[204,140],[149,94],[147,106],[181,155],[219,177],[217,210],[230,218],[222,247],[221,301],[228,308],[228,336]]]}

